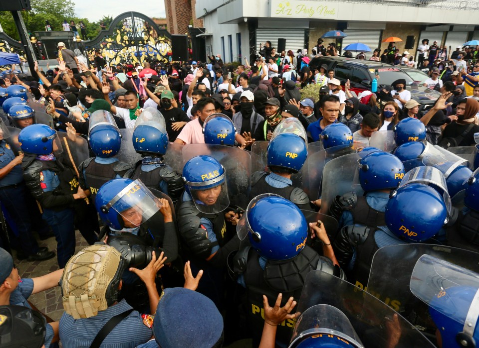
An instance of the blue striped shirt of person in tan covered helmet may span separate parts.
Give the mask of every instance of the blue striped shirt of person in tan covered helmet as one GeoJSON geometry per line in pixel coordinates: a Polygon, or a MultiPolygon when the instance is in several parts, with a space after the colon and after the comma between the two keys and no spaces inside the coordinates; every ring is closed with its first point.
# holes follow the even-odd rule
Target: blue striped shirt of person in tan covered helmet
{"type": "MultiPolygon", "coordinates": [[[[90,347],[98,332],[112,317],[130,309],[132,307],[121,300],[116,305],[99,311],[95,317],[74,320],[72,316],[63,313],[59,327],[63,347],[90,347]]],[[[150,340],[151,336],[152,331],[143,324],[140,313],[133,311],[108,334],[101,347],[134,348],[150,340]]]]}

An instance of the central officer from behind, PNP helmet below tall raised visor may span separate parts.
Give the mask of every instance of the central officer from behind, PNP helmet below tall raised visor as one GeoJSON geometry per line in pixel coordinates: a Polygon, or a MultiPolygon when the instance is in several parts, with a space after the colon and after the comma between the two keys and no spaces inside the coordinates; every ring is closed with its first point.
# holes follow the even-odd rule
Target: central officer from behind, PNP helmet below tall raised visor
{"type": "Polygon", "coordinates": [[[273,193],[286,198],[300,209],[314,210],[308,195],[294,187],[291,175],[301,170],[308,155],[307,143],[293,133],[278,134],[268,144],[267,164],[271,171],[255,172],[251,176],[250,198],[273,193]]]}

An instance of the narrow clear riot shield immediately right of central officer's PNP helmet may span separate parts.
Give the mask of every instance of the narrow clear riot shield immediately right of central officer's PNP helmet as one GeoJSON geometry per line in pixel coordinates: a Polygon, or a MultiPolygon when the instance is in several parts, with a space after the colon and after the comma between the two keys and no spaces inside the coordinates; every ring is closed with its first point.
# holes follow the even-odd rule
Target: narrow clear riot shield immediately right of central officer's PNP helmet
{"type": "MultiPolygon", "coordinates": [[[[326,151],[320,146],[310,144],[308,146],[308,157],[299,173],[302,179],[300,185],[294,185],[295,182],[293,181],[293,185],[301,187],[312,201],[319,198],[319,189],[321,187],[321,178],[323,176],[325,162],[326,151]]],[[[292,179],[293,177],[291,177],[291,180],[292,179]]]]}

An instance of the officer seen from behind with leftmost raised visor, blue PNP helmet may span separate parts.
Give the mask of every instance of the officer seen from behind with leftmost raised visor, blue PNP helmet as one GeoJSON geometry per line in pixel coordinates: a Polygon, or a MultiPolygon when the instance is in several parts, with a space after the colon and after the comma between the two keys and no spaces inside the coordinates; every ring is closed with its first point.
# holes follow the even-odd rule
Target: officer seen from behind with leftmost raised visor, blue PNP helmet
{"type": "Polygon", "coordinates": [[[91,115],[88,141],[96,157],[83,161],[79,169],[94,202],[104,183],[115,178],[130,178],[133,169],[130,164],[114,157],[120,150],[121,135],[113,116],[107,111],[98,110],[91,115]]]}

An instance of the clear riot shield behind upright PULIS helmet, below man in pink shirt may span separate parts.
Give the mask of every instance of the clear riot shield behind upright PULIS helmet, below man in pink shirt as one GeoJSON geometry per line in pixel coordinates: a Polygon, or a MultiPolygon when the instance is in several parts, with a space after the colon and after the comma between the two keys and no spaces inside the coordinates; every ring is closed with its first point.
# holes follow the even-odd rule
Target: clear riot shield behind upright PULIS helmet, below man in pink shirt
{"type": "Polygon", "coordinates": [[[226,145],[183,145],[183,163],[199,155],[211,156],[225,167],[230,203],[243,209],[246,208],[251,190],[251,156],[249,152],[226,145]]]}

